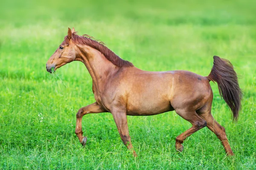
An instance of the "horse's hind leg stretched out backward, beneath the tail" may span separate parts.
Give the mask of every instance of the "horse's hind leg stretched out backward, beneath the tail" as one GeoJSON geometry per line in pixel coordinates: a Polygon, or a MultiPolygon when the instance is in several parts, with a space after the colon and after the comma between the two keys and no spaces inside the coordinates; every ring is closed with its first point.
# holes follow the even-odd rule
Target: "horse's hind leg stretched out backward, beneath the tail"
{"type": "Polygon", "coordinates": [[[211,111],[207,111],[203,114],[199,114],[199,116],[207,122],[207,127],[209,130],[212,130],[213,133],[221,140],[222,145],[227,153],[227,155],[234,155],[231,150],[230,144],[227,141],[227,135],[225,132],[225,128],[222,127],[216,120],[212,117],[211,111]]]}

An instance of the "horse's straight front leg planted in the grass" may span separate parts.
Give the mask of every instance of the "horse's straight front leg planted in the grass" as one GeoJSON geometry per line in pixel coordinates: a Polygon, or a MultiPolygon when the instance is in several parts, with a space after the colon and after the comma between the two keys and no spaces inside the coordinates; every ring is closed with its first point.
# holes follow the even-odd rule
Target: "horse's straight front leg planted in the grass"
{"type": "Polygon", "coordinates": [[[129,136],[126,111],[115,110],[115,111],[112,111],[111,113],[116,122],[116,127],[120,134],[122,142],[125,144],[125,146],[128,148],[128,150],[133,151],[133,155],[134,155],[134,157],[136,157],[137,154],[136,154],[135,150],[133,149],[133,146],[131,144],[131,137],[129,136]]]}

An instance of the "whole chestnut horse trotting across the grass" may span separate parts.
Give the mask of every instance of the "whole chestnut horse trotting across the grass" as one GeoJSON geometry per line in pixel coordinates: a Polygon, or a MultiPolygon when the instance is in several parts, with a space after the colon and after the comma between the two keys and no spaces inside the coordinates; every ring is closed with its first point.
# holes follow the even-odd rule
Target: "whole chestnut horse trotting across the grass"
{"type": "Polygon", "coordinates": [[[103,43],[88,35],[79,36],[68,28],[64,41],[46,64],[48,72],[72,62],[81,61],[93,79],[96,102],[80,108],[76,114],[76,135],[82,145],[82,117],[88,113],[110,112],[116,122],[122,142],[136,152],[129,136],[127,115],[149,116],[176,111],[192,127],[176,138],[176,150],[182,151],[184,140],[207,126],[221,140],[227,155],[233,155],[224,127],[212,117],[212,89],[210,81],[217,82],[220,95],[237,120],[241,106],[241,89],[236,72],[227,59],[213,57],[212,71],[207,77],[189,71],[143,71],[114,54],[103,43]]]}

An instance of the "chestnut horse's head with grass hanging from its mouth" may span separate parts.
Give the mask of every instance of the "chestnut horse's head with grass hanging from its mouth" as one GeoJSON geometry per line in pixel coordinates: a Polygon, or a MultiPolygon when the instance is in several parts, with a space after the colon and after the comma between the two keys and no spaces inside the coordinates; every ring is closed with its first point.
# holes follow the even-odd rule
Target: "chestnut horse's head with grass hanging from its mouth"
{"type": "Polygon", "coordinates": [[[48,59],[46,63],[46,69],[48,72],[52,73],[52,68],[56,70],[62,65],[65,65],[76,59],[76,45],[72,41],[73,32],[75,32],[74,28],[72,28],[72,31],[70,28],[68,28],[65,40],[48,59]]]}

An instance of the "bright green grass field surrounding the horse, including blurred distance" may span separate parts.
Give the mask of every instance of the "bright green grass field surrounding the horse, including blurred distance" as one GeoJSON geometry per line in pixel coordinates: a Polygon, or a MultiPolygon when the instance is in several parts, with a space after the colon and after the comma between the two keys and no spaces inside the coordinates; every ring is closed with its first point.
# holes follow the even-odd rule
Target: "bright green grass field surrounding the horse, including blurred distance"
{"type": "Polygon", "coordinates": [[[0,6],[0,169],[256,169],[256,1],[5,1],[0,6]],[[138,157],[123,145],[110,113],[83,118],[93,103],[92,79],[81,62],[57,70],[45,64],[75,27],[100,39],[123,59],[148,71],[189,70],[207,76],[212,56],[229,59],[244,98],[237,123],[211,82],[212,114],[226,128],[235,153],[225,155],[206,127],[177,153],[175,138],[191,124],[175,112],[128,116],[138,157]]]}

